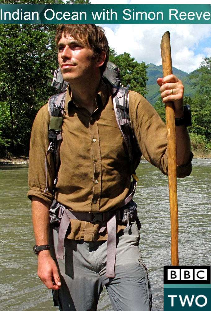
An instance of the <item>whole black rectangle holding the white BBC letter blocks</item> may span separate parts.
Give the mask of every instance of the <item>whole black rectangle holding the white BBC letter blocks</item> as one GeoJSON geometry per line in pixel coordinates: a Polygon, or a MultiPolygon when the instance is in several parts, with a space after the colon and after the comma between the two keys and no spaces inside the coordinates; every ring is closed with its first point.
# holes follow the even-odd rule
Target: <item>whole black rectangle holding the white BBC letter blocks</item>
{"type": "Polygon", "coordinates": [[[164,266],[164,284],[211,284],[210,266],[164,266]]]}

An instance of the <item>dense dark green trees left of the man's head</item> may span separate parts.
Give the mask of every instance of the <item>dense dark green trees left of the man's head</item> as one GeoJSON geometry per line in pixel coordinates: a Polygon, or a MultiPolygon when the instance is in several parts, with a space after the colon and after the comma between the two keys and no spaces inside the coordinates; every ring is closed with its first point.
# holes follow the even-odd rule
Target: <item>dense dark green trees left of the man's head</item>
{"type": "MultiPolygon", "coordinates": [[[[42,4],[39,0],[0,4],[42,4]]],[[[64,4],[46,0],[45,4],[64,4]]],[[[89,3],[75,0],[70,3],[89,3]]],[[[57,25],[0,25],[0,152],[28,155],[32,123],[38,109],[54,94],[51,70],[57,68],[57,25]]]]}

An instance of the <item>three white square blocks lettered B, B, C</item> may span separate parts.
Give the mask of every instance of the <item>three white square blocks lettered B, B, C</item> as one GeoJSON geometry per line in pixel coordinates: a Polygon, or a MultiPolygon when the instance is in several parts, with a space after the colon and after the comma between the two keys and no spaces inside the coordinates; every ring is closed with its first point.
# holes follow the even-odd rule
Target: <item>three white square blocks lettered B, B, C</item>
{"type": "Polygon", "coordinates": [[[207,281],[207,269],[168,269],[168,281],[207,281]]]}

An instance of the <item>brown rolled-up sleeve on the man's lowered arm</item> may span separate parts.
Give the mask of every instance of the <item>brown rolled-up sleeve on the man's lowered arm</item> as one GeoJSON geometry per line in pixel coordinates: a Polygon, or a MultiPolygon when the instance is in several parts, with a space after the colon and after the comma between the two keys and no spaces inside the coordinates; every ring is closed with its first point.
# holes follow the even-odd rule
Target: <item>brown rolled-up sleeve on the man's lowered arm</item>
{"type": "Polygon", "coordinates": [[[47,191],[46,188],[46,172],[45,172],[45,157],[49,146],[48,140],[48,125],[50,117],[48,106],[43,106],[34,120],[29,151],[29,192],[27,197],[39,197],[48,204],[53,200],[53,180],[54,180],[54,165],[52,154],[49,153],[46,159],[47,165],[47,191]]]}

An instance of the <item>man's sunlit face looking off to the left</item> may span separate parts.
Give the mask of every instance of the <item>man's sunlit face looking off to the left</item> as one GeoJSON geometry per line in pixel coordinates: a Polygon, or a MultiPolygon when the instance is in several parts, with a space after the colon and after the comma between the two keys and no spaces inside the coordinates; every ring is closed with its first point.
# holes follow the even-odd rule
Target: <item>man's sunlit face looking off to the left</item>
{"type": "Polygon", "coordinates": [[[68,82],[80,78],[88,79],[96,70],[99,70],[92,49],[88,49],[83,41],[77,41],[70,35],[65,38],[62,34],[58,42],[58,61],[63,79],[68,82]]]}

